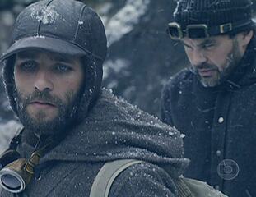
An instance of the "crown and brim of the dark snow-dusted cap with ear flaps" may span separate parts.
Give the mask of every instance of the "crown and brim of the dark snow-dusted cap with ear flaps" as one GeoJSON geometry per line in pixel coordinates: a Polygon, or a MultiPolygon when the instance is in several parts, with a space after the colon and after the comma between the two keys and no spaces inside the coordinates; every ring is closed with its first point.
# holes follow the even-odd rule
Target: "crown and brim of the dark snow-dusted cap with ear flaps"
{"type": "Polygon", "coordinates": [[[96,12],[82,2],[35,2],[17,17],[12,42],[0,61],[33,48],[69,55],[91,54],[104,61],[107,52],[105,28],[96,12]]]}

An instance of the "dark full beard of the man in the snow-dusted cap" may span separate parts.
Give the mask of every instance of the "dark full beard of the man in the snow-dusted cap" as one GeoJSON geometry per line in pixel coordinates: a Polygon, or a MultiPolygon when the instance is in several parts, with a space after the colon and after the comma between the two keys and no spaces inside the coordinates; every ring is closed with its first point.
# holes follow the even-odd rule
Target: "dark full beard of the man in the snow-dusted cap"
{"type": "MultiPolygon", "coordinates": [[[[16,108],[18,117],[23,126],[28,131],[32,131],[37,137],[41,135],[58,135],[66,132],[67,128],[75,121],[74,117],[77,113],[78,98],[72,92],[67,92],[65,98],[67,104],[63,100],[52,96],[48,91],[35,90],[32,94],[23,95],[17,90],[15,91],[14,98],[16,100],[16,108]],[[41,100],[45,103],[52,103],[58,108],[58,114],[50,121],[37,121],[31,117],[27,112],[27,106],[35,101],[41,100]]],[[[38,117],[44,117],[44,112],[38,112],[38,117]]]]}

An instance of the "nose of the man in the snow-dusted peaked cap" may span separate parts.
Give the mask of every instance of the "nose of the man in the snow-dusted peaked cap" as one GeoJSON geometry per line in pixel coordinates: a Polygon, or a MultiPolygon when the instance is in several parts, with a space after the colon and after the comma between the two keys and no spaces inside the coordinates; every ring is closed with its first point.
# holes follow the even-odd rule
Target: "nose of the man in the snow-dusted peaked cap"
{"type": "Polygon", "coordinates": [[[47,74],[46,71],[39,71],[35,79],[35,84],[34,84],[35,89],[38,89],[40,91],[53,90],[54,84],[50,78],[51,77],[49,76],[49,74],[47,74]]]}

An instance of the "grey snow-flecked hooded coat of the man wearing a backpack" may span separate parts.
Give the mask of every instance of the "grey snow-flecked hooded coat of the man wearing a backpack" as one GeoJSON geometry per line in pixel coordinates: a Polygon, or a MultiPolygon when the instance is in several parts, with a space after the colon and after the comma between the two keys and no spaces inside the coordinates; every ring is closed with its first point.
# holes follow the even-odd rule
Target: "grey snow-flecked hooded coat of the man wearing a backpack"
{"type": "MultiPolygon", "coordinates": [[[[23,132],[18,150],[26,157],[34,148],[26,142],[26,130],[23,132]]],[[[172,180],[188,164],[182,147],[179,131],[104,89],[85,121],[41,158],[39,172],[26,193],[30,197],[89,196],[105,162],[137,158],[154,164],[129,167],[114,181],[109,196],[173,197],[172,180]]],[[[2,191],[0,196],[12,195],[2,191]]]]}

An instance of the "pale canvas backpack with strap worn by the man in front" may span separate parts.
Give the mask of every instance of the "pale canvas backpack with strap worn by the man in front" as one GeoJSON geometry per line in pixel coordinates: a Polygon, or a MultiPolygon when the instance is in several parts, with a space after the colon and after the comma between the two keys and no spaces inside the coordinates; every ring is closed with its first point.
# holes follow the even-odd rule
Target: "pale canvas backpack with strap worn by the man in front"
{"type": "MultiPolygon", "coordinates": [[[[91,186],[90,197],[108,197],[114,179],[125,169],[137,163],[145,162],[136,159],[119,159],[105,163],[100,168],[100,172],[98,172],[91,186]]],[[[183,176],[175,181],[175,186],[178,190],[178,197],[228,197],[220,191],[213,189],[212,186],[207,185],[205,182],[183,176]]]]}

